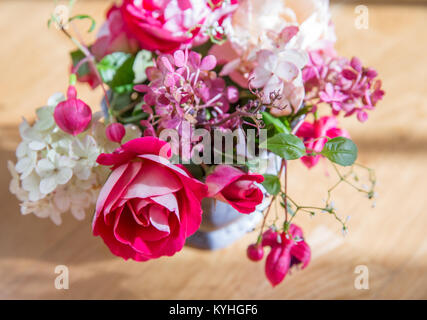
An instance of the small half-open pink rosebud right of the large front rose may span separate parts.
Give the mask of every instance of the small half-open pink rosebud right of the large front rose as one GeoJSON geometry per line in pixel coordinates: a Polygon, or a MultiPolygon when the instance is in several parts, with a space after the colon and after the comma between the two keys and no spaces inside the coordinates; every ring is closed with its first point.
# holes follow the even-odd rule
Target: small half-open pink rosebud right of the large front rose
{"type": "Polygon", "coordinates": [[[240,213],[252,213],[264,198],[262,191],[254,184],[264,177],[245,173],[228,165],[219,165],[207,176],[208,197],[229,203],[240,213]]]}

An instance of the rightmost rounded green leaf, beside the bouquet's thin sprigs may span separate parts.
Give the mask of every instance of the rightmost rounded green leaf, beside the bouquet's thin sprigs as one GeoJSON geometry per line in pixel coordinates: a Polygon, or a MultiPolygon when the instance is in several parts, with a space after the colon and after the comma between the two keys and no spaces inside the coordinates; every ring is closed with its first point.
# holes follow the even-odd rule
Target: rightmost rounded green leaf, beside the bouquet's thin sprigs
{"type": "Polygon", "coordinates": [[[336,137],[326,142],[321,154],[341,166],[351,166],[357,158],[357,146],[350,139],[336,137]]]}

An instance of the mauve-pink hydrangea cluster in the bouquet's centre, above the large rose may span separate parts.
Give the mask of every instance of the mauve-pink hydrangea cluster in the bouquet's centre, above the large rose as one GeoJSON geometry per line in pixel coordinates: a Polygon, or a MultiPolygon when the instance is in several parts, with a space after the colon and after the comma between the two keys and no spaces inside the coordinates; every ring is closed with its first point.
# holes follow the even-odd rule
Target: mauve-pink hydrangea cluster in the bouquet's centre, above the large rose
{"type": "Polygon", "coordinates": [[[223,119],[230,104],[239,98],[234,86],[213,71],[216,58],[195,51],[177,50],[173,55],[160,55],[155,66],[146,70],[148,85],[137,85],[144,93],[142,109],[150,118],[142,124],[151,135],[162,129],[181,130],[183,122],[206,122],[223,119]]]}

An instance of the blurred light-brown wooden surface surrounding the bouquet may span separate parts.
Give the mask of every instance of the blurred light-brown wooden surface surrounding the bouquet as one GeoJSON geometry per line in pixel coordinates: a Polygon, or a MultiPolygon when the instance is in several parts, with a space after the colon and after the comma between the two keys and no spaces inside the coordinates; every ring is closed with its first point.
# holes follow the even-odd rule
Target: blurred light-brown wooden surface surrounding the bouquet
{"type": "MultiPolygon", "coordinates": [[[[0,298],[426,299],[427,10],[397,1],[368,3],[368,30],[355,28],[355,4],[337,1],[332,12],[339,52],[375,66],[387,91],[366,124],[342,121],[358,143],[359,162],[377,170],[377,206],[372,209],[361,195],[340,189],[336,205],[342,216],[352,216],[345,238],[329,216],[298,217],[313,260],[272,289],[263,263],[245,258],[255,234],[216,252],[185,248],[172,258],[136,263],[112,256],[91,235],[90,214],[84,222],[64,217],[59,227],[20,215],[8,191],[6,160],[15,159],[21,116],[33,117],[51,93],[66,89],[67,53],[73,47],[46,27],[53,1],[2,0],[0,298]],[[57,265],[69,267],[69,290],[54,288],[57,265]],[[354,287],[358,265],[369,268],[368,290],[354,287]]],[[[107,6],[107,1],[80,0],[75,13],[101,22],[107,6]]],[[[79,95],[98,108],[99,90],[80,86],[79,95]]],[[[290,193],[304,203],[319,204],[334,182],[323,165],[308,171],[293,163],[289,176],[290,193]]]]}

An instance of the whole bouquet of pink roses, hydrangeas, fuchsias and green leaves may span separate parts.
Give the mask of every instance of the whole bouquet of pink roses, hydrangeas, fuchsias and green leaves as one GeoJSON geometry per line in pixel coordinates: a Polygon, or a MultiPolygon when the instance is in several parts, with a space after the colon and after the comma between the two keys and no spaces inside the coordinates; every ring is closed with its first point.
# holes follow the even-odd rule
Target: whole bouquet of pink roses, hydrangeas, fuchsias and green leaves
{"type": "Polygon", "coordinates": [[[123,0],[92,44],[77,24],[88,20],[91,32],[95,21],[73,15],[73,3],[48,23],[76,45],[66,95],[22,122],[9,162],[22,214],[60,224],[94,210],[93,234],[113,254],[147,261],[183,248],[205,219],[202,202],[223,215],[255,212],[247,256],[259,261],[270,247],[275,286],[310,261],[300,213],[330,214],[345,232],[332,191],[343,182],[374,198],[374,172],[355,162],[337,117],[366,121],[384,92],[374,69],[335,52],[327,0],[123,0]],[[99,111],[77,81],[102,88],[99,111]],[[289,196],[288,162],[298,159],[308,168],[326,159],[336,172],[323,207],[289,196]],[[358,186],[358,170],[371,186],[358,186]],[[270,221],[276,201],[281,217],[270,221]]]}

